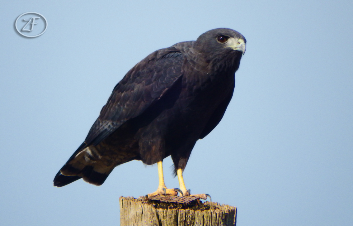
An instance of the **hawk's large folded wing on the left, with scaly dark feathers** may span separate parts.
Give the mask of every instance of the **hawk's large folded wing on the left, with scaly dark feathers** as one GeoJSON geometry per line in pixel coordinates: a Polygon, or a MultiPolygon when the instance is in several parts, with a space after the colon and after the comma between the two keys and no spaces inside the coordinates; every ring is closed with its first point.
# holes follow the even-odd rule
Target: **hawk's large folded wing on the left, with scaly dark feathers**
{"type": "Polygon", "coordinates": [[[183,54],[174,47],[151,53],[115,86],[91,127],[86,145],[97,145],[127,120],[142,114],[182,75],[183,54]]]}

